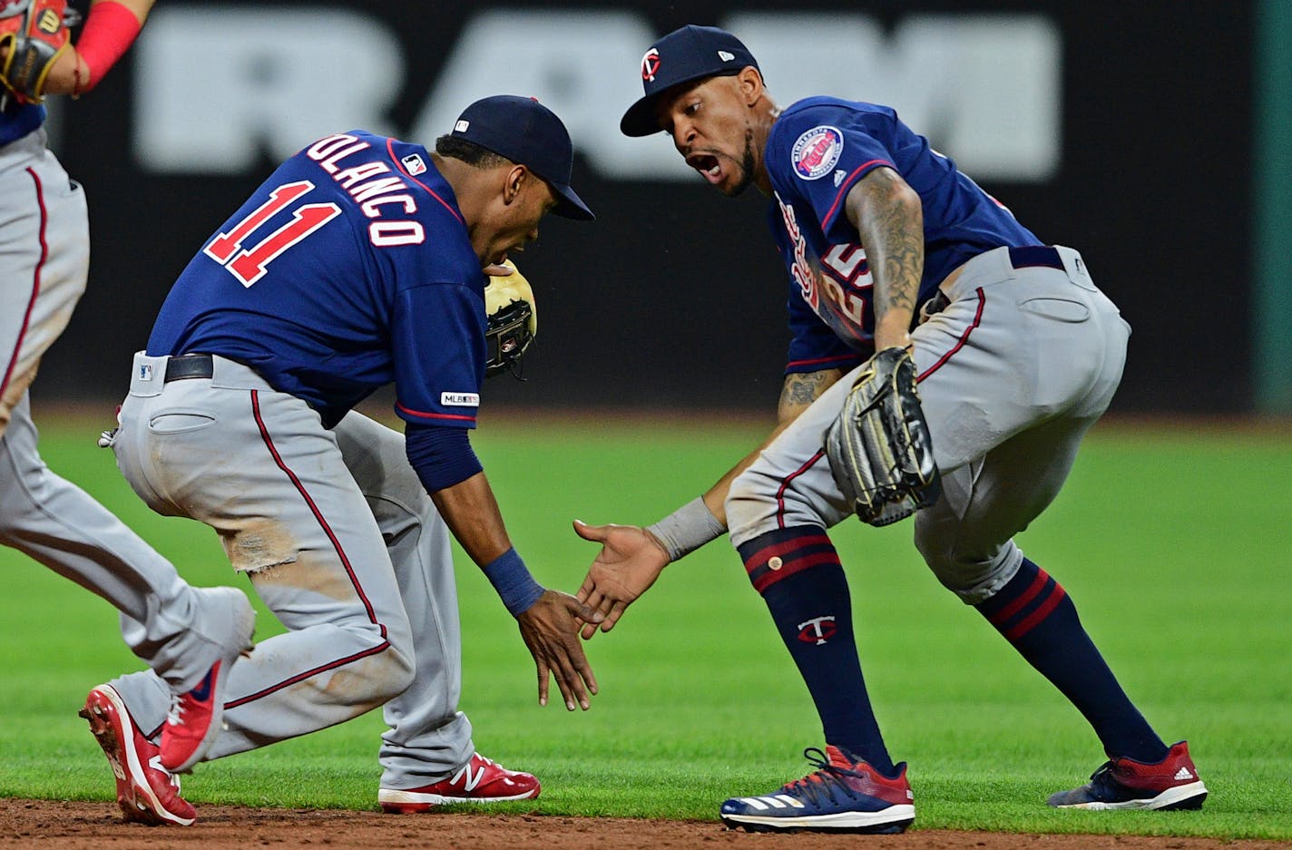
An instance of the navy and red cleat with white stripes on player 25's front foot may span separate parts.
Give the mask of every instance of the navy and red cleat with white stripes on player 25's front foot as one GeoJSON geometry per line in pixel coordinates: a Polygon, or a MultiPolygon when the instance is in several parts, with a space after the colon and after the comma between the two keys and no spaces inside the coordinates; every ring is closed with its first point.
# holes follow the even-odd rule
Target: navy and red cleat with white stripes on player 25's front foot
{"type": "Polygon", "coordinates": [[[804,751],[817,771],[770,794],[722,803],[722,823],[749,832],[902,832],[915,820],[915,794],[906,762],[895,779],[882,776],[839,747],[804,751]]]}

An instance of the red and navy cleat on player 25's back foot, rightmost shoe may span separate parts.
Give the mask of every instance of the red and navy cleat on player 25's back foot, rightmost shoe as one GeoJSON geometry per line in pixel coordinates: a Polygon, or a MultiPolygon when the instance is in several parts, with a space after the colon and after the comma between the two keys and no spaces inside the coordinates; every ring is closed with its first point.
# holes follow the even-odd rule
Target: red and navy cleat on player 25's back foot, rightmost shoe
{"type": "Polygon", "coordinates": [[[1173,744],[1156,763],[1114,758],[1090,774],[1090,782],[1050,794],[1056,809],[1202,809],[1207,787],[1198,776],[1189,743],[1173,744]]]}

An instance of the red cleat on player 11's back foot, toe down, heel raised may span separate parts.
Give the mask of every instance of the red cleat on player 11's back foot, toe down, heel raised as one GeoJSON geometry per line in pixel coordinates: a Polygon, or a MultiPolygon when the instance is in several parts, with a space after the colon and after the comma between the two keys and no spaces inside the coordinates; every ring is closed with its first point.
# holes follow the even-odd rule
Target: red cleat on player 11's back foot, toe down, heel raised
{"type": "Polygon", "coordinates": [[[79,712],[116,776],[116,802],[127,820],[187,827],[196,810],[180,796],[180,778],[162,766],[162,752],[134,725],[121,695],[99,685],[79,712]]]}

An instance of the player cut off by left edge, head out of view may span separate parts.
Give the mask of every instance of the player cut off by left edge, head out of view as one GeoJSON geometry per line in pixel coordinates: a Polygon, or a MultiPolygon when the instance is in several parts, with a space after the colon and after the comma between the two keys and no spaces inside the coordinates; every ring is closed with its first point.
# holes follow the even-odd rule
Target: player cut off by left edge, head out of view
{"type": "MultiPolygon", "coordinates": [[[[174,566],[75,484],[45,466],[28,388],[89,273],[85,195],[45,147],[45,94],[81,94],[125,52],[151,0],[96,0],[75,47],[65,4],[0,1],[0,543],[103,597],[125,642],[154,670],[160,735],[136,743],[142,763],[183,769],[220,730],[229,668],[249,646],[255,612],[242,590],[193,588],[174,566]]],[[[89,710],[89,708],[87,708],[89,710]]],[[[120,767],[120,766],[118,766],[120,767]]],[[[191,822],[156,800],[169,774],[127,774],[127,816],[191,822]]]]}

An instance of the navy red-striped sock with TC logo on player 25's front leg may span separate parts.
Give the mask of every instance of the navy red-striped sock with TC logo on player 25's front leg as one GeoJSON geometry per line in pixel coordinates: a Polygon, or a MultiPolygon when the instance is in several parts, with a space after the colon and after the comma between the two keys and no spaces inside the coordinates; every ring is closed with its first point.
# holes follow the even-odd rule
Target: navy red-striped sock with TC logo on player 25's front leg
{"type": "Polygon", "coordinates": [[[848,579],[824,530],[770,531],[738,550],[817,704],[826,743],[893,776],[857,658],[848,579]]]}

